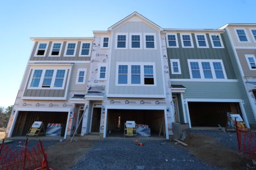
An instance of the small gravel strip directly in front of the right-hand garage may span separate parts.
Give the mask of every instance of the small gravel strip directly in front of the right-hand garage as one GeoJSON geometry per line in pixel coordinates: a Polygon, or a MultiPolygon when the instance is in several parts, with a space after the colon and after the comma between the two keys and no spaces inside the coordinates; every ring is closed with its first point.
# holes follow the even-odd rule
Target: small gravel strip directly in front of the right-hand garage
{"type": "Polygon", "coordinates": [[[190,134],[204,134],[214,137],[219,145],[227,146],[228,148],[238,151],[237,134],[225,133],[224,131],[205,131],[205,130],[190,130],[190,134]]]}

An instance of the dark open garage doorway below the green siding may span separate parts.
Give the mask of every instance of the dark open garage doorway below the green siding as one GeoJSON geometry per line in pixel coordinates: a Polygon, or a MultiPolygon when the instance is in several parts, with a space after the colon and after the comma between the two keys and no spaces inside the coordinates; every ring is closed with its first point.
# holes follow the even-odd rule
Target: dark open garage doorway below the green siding
{"type": "Polygon", "coordinates": [[[227,112],[240,114],[239,103],[225,102],[188,102],[191,126],[222,127],[226,126],[227,112]]]}

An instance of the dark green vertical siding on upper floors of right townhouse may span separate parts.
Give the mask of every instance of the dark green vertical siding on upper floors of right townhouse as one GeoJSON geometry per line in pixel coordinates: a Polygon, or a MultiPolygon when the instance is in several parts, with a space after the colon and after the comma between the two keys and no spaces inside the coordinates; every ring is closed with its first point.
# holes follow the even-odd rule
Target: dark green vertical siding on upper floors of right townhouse
{"type": "MultiPolygon", "coordinates": [[[[210,43],[209,35],[207,34],[209,48],[196,48],[195,34],[192,33],[192,39],[195,48],[182,48],[180,34],[177,33],[177,39],[179,42],[179,48],[167,48],[168,62],[171,66],[170,59],[180,59],[181,74],[171,74],[171,79],[190,79],[188,69],[188,59],[222,59],[226,76],[228,79],[236,79],[234,74],[233,66],[230,64],[231,60],[229,57],[228,50],[226,48],[212,48],[210,43]]],[[[222,41],[223,38],[222,38],[222,41]]],[[[226,47],[225,41],[223,42],[226,47]]]]}

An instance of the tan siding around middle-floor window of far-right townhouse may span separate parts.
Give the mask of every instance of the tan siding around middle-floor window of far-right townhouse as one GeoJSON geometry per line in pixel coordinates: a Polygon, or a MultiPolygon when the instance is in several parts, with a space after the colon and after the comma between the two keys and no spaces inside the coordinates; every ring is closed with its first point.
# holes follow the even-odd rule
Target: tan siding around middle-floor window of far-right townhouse
{"type": "Polygon", "coordinates": [[[249,65],[245,58],[245,54],[253,54],[256,57],[256,49],[236,49],[236,51],[243,69],[243,74],[249,77],[256,77],[256,70],[250,70],[249,65]]]}

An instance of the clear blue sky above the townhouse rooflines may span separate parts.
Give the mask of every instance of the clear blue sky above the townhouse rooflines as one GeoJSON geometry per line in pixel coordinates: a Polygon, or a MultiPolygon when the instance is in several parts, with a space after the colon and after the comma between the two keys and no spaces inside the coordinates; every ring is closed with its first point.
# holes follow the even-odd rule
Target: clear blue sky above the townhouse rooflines
{"type": "Polygon", "coordinates": [[[13,105],[33,42],[30,37],[87,37],[134,11],[162,28],[256,23],[254,0],[1,1],[0,106],[13,105]]]}

